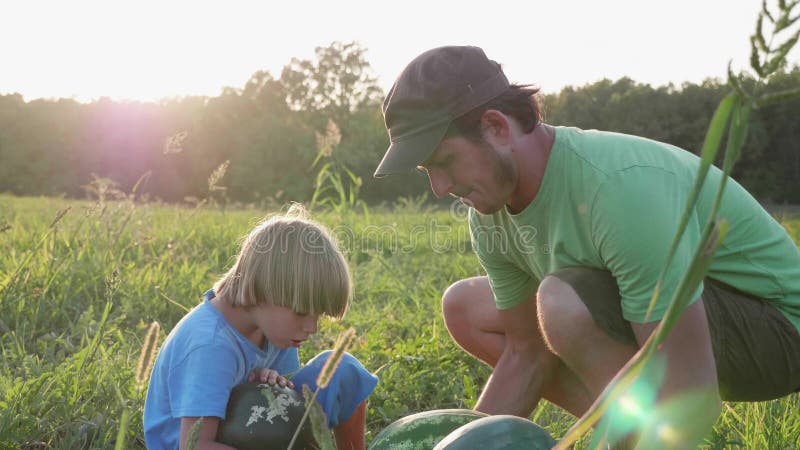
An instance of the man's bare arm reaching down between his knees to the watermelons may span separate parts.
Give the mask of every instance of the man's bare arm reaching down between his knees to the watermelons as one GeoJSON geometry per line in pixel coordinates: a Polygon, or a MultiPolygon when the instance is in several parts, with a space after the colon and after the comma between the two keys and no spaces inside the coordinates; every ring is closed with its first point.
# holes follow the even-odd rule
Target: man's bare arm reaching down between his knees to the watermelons
{"type": "Polygon", "coordinates": [[[557,360],[547,351],[539,331],[535,291],[519,305],[498,313],[505,329],[505,349],[475,409],[527,417],[539,402],[557,360]]]}

